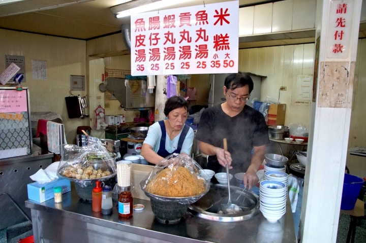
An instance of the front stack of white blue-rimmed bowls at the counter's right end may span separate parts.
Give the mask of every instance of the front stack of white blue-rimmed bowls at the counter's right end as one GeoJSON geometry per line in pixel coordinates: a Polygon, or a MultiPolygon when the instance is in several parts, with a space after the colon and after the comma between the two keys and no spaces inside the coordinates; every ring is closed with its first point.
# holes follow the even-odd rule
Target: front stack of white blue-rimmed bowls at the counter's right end
{"type": "Polygon", "coordinates": [[[262,181],[259,189],[260,211],[269,222],[286,213],[287,186],[282,182],[262,181]]]}

